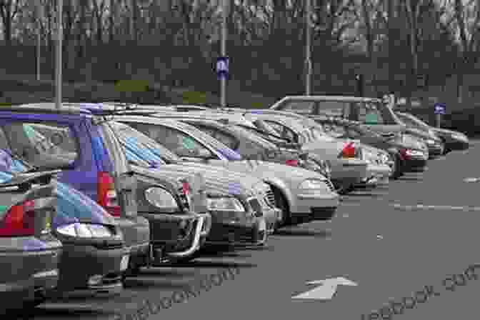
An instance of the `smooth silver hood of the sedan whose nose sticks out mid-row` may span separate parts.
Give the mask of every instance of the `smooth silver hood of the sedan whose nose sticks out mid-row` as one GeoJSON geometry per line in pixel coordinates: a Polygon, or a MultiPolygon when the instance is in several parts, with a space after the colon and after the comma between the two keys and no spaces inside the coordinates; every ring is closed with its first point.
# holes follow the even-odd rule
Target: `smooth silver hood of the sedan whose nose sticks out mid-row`
{"type": "Polygon", "coordinates": [[[225,169],[261,177],[261,179],[282,179],[286,182],[309,178],[325,179],[324,176],[296,166],[287,166],[276,162],[244,160],[244,161],[211,161],[211,164],[223,166],[225,169]]]}

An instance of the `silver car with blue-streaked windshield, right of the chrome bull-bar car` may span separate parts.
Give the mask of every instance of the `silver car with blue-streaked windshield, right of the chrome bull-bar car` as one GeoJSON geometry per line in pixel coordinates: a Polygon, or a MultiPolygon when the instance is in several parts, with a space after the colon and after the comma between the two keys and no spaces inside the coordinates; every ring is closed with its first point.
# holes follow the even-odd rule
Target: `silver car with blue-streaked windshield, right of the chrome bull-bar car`
{"type": "MultiPolygon", "coordinates": [[[[120,118],[120,117],[119,117],[120,118]]],[[[121,120],[121,119],[117,119],[121,120]]],[[[205,177],[208,209],[212,216],[206,244],[226,246],[264,245],[267,231],[274,229],[278,211],[267,201],[269,186],[254,176],[183,163],[175,154],[126,124],[114,123],[126,157],[138,166],[154,164],[157,171],[201,172],[205,177]],[[269,225],[266,224],[269,221],[269,225]]]]}

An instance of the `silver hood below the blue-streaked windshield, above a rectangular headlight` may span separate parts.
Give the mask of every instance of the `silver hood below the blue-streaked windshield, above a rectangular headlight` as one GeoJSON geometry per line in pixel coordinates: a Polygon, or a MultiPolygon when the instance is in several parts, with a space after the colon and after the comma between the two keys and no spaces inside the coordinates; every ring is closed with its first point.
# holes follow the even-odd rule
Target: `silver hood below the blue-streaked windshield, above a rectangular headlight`
{"type": "Polygon", "coordinates": [[[152,178],[175,177],[184,179],[193,174],[202,174],[206,184],[207,194],[244,194],[252,196],[254,189],[263,182],[254,176],[232,172],[228,169],[208,164],[182,162],[181,164],[164,164],[155,169],[141,169],[152,178]]]}

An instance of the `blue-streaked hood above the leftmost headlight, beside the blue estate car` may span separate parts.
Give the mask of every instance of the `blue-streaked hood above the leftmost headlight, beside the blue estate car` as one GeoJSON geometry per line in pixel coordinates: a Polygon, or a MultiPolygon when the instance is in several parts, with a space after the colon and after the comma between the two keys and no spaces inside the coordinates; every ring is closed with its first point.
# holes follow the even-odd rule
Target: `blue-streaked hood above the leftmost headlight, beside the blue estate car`
{"type": "Polygon", "coordinates": [[[71,186],[57,182],[56,194],[56,215],[52,223],[54,228],[75,222],[116,225],[113,216],[89,196],[71,186]]]}

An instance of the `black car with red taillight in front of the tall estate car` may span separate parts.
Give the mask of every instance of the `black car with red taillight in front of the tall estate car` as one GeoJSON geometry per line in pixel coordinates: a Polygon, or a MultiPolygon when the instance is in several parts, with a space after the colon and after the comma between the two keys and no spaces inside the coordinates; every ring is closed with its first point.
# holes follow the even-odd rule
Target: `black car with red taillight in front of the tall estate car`
{"type": "Polygon", "coordinates": [[[426,157],[421,149],[407,144],[401,139],[401,135],[379,134],[358,121],[346,119],[317,120],[322,124],[325,131],[336,131],[336,137],[342,139],[356,139],[362,144],[368,144],[375,148],[389,152],[395,159],[393,179],[398,179],[404,172],[421,171],[426,166],[426,157]]]}

